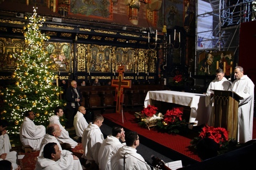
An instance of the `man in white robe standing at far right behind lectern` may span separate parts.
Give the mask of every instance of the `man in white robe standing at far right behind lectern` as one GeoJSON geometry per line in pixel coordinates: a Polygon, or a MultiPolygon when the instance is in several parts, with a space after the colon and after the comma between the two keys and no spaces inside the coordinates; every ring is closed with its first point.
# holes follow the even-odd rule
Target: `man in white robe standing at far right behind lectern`
{"type": "Polygon", "coordinates": [[[236,80],[233,82],[233,91],[243,97],[238,104],[238,137],[239,143],[245,143],[253,139],[254,118],[254,83],[244,75],[244,69],[236,66],[236,80]]]}

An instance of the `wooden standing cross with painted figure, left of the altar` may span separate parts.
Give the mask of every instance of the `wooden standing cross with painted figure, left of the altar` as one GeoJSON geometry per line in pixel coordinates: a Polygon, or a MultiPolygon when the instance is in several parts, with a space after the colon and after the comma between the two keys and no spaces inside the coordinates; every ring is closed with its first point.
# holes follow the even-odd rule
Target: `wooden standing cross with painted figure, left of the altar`
{"type": "Polygon", "coordinates": [[[118,80],[112,80],[111,86],[116,87],[115,101],[117,102],[116,113],[121,113],[122,104],[124,103],[124,88],[131,87],[130,80],[124,80],[125,66],[118,67],[118,80]]]}

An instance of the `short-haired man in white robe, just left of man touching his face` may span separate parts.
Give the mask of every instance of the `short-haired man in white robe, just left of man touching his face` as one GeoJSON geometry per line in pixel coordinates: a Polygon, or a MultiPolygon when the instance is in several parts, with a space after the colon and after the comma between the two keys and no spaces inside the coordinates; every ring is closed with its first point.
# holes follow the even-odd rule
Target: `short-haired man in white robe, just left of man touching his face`
{"type": "Polygon", "coordinates": [[[101,133],[99,127],[102,125],[103,121],[103,116],[101,114],[96,114],[94,116],[93,123],[90,123],[83,133],[83,157],[87,160],[86,164],[91,163],[91,166],[94,165],[94,163],[98,165],[98,150],[104,140],[103,134],[101,133]]]}

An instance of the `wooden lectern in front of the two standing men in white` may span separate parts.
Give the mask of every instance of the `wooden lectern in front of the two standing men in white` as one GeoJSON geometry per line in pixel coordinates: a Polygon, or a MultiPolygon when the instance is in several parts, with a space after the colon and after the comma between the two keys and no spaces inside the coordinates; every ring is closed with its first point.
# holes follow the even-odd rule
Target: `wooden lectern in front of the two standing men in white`
{"type": "Polygon", "coordinates": [[[237,140],[238,104],[243,99],[234,91],[214,91],[213,126],[223,127],[228,131],[228,139],[237,140]]]}

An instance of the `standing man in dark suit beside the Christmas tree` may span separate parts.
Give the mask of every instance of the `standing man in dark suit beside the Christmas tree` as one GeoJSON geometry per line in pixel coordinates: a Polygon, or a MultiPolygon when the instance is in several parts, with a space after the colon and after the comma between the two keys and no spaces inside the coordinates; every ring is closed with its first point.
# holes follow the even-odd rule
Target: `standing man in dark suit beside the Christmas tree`
{"type": "Polygon", "coordinates": [[[74,115],[78,111],[78,107],[81,106],[82,94],[79,88],[77,88],[76,81],[72,81],[71,85],[66,90],[66,118],[67,127],[73,126],[74,115]]]}

